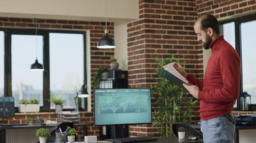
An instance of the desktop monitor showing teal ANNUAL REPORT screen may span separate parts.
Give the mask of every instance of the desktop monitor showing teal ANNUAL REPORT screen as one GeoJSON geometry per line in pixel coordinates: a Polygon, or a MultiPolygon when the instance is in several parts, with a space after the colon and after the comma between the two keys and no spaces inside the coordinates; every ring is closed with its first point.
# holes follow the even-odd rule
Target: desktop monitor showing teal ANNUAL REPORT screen
{"type": "Polygon", "coordinates": [[[151,89],[94,89],[94,125],[152,123],[151,89]]]}

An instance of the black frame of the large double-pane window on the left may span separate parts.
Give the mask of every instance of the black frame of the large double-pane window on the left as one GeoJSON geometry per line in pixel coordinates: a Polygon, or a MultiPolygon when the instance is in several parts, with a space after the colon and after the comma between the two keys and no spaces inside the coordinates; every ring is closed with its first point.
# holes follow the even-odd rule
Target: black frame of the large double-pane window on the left
{"type": "MultiPolygon", "coordinates": [[[[11,35],[35,35],[35,28],[0,28],[0,31],[4,32],[4,96],[5,97],[12,97],[12,77],[11,77],[11,35]]],[[[87,61],[86,61],[86,32],[85,31],[67,31],[67,30],[42,30],[37,29],[37,35],[43,37],[43,52],[42,52],[42,64],[44,65],[45,71],[43,72],[43,99],[50,99],[50,33],[66,33],[66,34],[82,34],[83,35],[83,79],[87,83],[87,61]]],[[[31,61],[31,64],[33,61],[31,61]]],[[[87,110],[87,98],[84,99],[84,107],[87,110]]],[[[40,111],[53,111],[50,109],[50,102],[48,100],[43,101],[44,106],[40,106],[40,111]]],[[[15,108],[15,112],[17,111],[17,107],[15,108]]]]}

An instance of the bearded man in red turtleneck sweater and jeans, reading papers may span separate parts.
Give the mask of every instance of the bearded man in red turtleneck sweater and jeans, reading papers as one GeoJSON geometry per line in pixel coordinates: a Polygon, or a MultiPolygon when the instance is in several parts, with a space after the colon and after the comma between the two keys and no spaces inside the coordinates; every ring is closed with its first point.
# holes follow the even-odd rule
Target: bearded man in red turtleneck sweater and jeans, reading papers
{"type": "Polygon", "coordinates": [[[178,63],[174,67],[189,81],[190,85],[183,84],[184,87],[200,101],[204,142],[233,142],[235,126],[231,111],[239,97],[239,55],[221,36],[214,16],[202,15],[196,20],[194,29],[203,48],[212,50],[204,81],[188,74],[178,63]]]}

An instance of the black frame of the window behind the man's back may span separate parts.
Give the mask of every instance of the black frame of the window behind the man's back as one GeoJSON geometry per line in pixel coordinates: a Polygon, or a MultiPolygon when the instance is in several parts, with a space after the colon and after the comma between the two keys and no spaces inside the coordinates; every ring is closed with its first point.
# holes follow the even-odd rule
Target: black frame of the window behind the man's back
{"type": "MultiPolygon", "coordinates": [[[[241,61],[241,76],[240,76],[240,95],[243,92],[243,68],[242,68],[242,45],[241,45],[241,23],[243,22],[248,22],[248,21],[253,21],[256,20],[256,14],[249,14],[249,15],[244,15],[240,17],[235,17],[231,18],[228,20],[223,20],[219,21],[219,25],[229,23],[229,22],[234,22],[234,34],[235,34],[235,43],[236,43],[236,50],[238,52],[238,55],[240,56],[240,61],[241,61]]],[[[237,99],[237,108],[233,108],[233,110],[242,110],[242,107],[240,106],[240,99],[237,99]]],[[[251,104],[251,110],[256,110],[256,104],[251,104]]]]}

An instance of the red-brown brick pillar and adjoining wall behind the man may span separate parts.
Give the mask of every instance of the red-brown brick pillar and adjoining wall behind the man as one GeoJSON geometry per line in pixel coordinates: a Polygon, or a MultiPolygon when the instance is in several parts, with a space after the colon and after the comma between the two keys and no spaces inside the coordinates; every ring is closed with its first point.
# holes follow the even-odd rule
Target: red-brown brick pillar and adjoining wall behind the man
{"type": "MultiPolygon", "coordinates": [[[[198,45],[194,22],[203,13],[228,19],[253,12],[255,1],[140,0],[139,19],[127,23],[129,87],[144,88],[158,78],[155,58],[177,58],[187,72],[203,79],[203,49],[198,45]]],[[[245,112],[234,112],[239,115],[245,112]]],[[[194,112],[194,123],[200,120],[194,112]]],[[[159,136],[156,128],[131,125],[130,136],[159,136]]]]}

